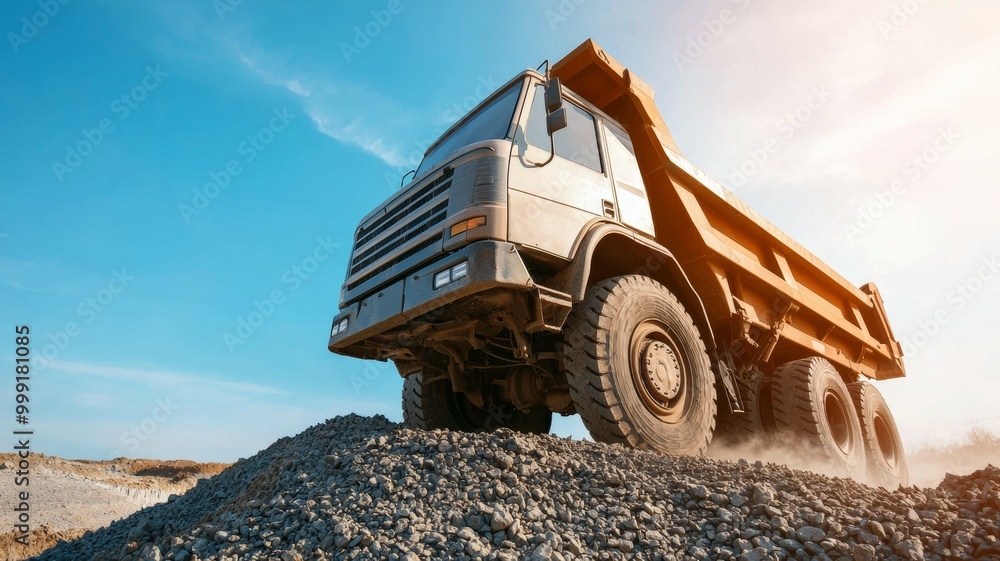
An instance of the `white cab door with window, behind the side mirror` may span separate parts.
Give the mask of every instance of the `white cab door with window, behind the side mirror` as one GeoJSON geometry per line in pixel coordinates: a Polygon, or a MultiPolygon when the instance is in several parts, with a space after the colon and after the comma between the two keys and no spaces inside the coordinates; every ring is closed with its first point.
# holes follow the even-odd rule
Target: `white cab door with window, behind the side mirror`
{"type": "Polygon", "coordinates": [[[601,156],[597,119],[566,100],[568,125],[555,133],[548,164],[543,88],[527,92],[514,134],[508,179],[509,240],[570,257],[584,226],[598,217],[617,219],[614,188],[601,156]]]}

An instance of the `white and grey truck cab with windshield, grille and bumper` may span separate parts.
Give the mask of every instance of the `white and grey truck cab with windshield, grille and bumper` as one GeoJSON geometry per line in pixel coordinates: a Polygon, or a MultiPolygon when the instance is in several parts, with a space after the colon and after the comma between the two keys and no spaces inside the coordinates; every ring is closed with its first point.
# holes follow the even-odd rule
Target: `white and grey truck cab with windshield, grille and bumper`
{"type": "Polygon", "coordinates": [[[628,133],[563,90],[566,127],[550,137],[544,88],[545,77],[530,70],[506,83],[428,148],[413,181],[362,219],[331,351],[419,360],[413,343],[454,321],[445,318],[468,315],[470,295],[486,315],[497,294],[524,300],[516,319],[529,332],[558,331],[569,296],[536,277],[563,270],[599,223],[653,237],[628,133]],[[459,300],[461,313],[451,313],[459,300]]]}

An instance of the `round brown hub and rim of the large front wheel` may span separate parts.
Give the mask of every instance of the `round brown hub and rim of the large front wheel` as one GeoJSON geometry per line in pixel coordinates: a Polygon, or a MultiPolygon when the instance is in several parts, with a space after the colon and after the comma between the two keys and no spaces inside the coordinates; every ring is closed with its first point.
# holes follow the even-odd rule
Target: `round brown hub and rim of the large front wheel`
{"type": "Polygon", "coordinates": [[[691,381],[669,330],[655,321],[640,323],[632,333],[629,357],[634,386],[646,409],[665,422],[680,420],[691,381]]]}

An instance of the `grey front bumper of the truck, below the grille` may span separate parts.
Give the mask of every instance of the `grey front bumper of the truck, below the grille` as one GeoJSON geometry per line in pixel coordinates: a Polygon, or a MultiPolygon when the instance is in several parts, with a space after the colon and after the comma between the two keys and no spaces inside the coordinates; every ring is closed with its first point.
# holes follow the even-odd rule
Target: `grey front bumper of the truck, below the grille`
{"type": "Polygon", "coordinates": [[[534,283],[513,244],[498,241],[469,244],[341,310],[332,325],[347,319],[347,327],[331,336],[327,346],[337,354],[383,358],[378,347],[367,342],[369,338],[456,300],[494,288],[530,291],[534,283]],[[469,263],[468,274],[435,290],[434,275],[463,261],[469,263]]]}

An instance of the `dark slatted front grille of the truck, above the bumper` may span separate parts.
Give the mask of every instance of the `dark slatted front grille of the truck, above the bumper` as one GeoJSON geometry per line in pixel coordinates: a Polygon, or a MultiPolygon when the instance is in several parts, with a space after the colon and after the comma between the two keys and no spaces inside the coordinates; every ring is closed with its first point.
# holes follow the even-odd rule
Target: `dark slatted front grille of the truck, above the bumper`
{"type": "Polygon", "coordinates": [[[384,214],[358,230],[351,256],[350,275],[354,276],[380,259],[399,251],[393,258],[378,264],[360,278],[352,279],[348,289],[353,289],[394,264],[424,249],[437,238],[419,242],[416,247],[405,248],[407,242],[420,238],[442,222],[448,213],[448,197],[445,193],[451,187],[451,170],[436,180],[424,185],[386,208],[384,214]]]}

